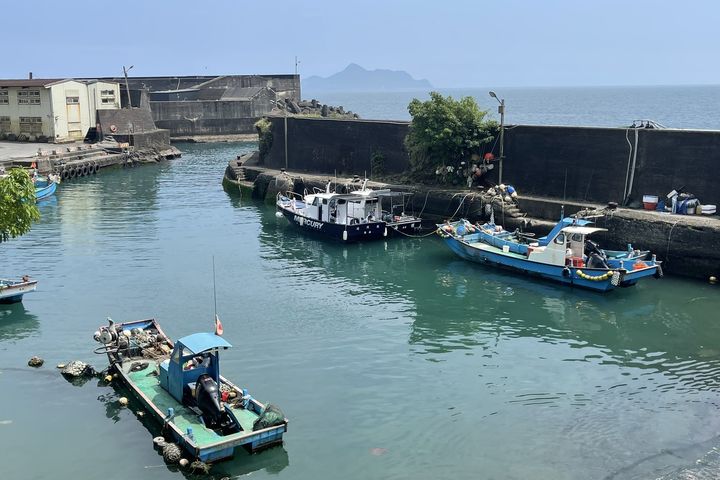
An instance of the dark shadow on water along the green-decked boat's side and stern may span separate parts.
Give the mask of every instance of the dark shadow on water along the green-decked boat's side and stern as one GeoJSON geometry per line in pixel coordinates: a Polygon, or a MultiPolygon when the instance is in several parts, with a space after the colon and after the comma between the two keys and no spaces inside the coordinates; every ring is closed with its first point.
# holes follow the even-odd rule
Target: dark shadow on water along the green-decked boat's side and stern
{"type": "MultiPolygon", "coordinates": [[[[116,380],[109,385],[104,380],[99,380],[96,386],[105,392],[97,397],[98,401],[105,406],[105,416],[112,420],[113,423],[118,423],[123,420],[121,413],[124,410],[131,411],[134,420],[139,421],[150,433],[147,442],[148,448],[154,448],[152,438],[163,435],[160,422],[145,409],[142,403],[132,395],[125,385],[118,383],[116,380]],[[118,402],[120,397],[126,397],[128,399],[128,405],[126,407],[120,406],[118,402]]],[[[161,451],[158,451],[158,460],[160,463],[163,462],[161,451]]],[[[213,464],[209,476],[181,469],[177,465],[165,464],[164,466],[171,472],[182,473],[185,478],[219,480],[226,477],[236,478],[260,470],[265,470],[270,474],[277,474],[289,464],[290,458],[285,447],[279,445],[252,454],[244,448],[237,448],[233,458],[213,464]]]]}

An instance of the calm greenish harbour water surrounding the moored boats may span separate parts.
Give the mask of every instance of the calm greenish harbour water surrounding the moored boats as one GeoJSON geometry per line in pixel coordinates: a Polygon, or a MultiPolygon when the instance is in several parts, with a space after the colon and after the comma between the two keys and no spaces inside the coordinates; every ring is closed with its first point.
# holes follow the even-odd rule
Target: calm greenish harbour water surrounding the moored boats
{"type": "Polygon", "coordinates": [[[0,307],[3,478],[196,478],[163,464],[123,392],[54,365],[104,367],[92,332],[106,316],[210,331],[213,256],[235,345],[224,374],[290,425],[283,447],[211,478],[720,476],[717,287],[600,295],[464,263],[435,237],[307,238],[222,190],[227,159],[254,147],[181,145],[172,162],[64,183],[0,245],[0,273],[40,280],[0,307]]]}

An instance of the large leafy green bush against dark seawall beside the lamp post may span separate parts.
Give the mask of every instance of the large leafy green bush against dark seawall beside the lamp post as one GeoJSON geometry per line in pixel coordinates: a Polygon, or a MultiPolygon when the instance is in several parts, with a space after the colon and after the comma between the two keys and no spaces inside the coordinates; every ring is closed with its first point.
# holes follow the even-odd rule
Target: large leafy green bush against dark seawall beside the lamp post
{"type": "Polygon", "coordinates": [[[408,105],[412,116],[405,146],[410,154],[412,174],[418,179],[436,179],[446,167],[470,164],[473,154],[481,155],[493,141],[497,123],[485,120],[472,97],[454,100],[437,92],[430,100],[413,99],[408,105]]]}

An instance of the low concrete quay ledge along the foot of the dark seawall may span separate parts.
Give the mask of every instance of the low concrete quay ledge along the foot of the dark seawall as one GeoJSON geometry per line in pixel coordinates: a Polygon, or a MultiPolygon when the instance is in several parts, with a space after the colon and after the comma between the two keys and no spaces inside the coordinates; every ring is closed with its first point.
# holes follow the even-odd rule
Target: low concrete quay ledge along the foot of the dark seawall
{"type": "MultiPolygon", "coordinates": [[[[324,190],[328,181],[333,181],[331,188],[337,191],[352,189],[353,185],[359,187],[352,179],[335,180],[327,175],[267,169],[252,165],[255,161],[257,153],[230,161],[223,177],[226,190],[274,203],[278,192],[302,194],[313,188],[324,190]]],[[[634,248],[651,250],[663,260],[666,273],[699,279],[720,274],[720,222],[713,218],[628,208],[608,210],[601,204],[531,196],[520,196],[516,206],[498,195],[478,190],[379,182],[369,182],[369,186],[413,193],[405,209],[425,218],[428,229],[434,228],[434,222],[451,217],[482,221],[492,211],[496,222],[508,230],[522,228],[539,236],[547,234],[555,225],[561,209],[565,215],[590,209],[598,215],[594,218],[596,226],[608,229],[593,237],[604,247],[624,250],[632,244],[634,248]]]]}

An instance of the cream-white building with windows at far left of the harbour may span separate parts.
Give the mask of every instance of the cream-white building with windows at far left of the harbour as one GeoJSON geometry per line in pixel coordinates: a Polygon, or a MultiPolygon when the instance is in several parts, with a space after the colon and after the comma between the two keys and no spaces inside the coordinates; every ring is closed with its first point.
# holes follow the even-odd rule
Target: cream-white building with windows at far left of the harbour
{"type": "Polygon", "coordinates": [[[98,110],[120,108],[120,85],[97,80],[0,80],[0,138],[85,138],[98,110]]]}

